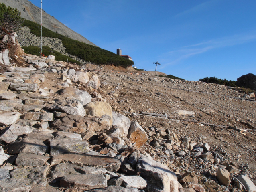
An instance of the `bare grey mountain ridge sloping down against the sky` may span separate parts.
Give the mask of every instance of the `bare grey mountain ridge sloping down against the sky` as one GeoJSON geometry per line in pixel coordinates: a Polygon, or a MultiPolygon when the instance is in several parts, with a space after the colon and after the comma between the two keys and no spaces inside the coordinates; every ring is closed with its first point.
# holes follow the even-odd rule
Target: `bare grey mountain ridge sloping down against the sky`
{"type": "MultiPolygon", "coordinates": [[[[40,8],[32,4],[28,0],[0,0],[0,3],[4,3],[6,6],[10,6],[12,8],[17,8],[21,12],[21,17],[25,18],[26,20],[30,20],[33,22],[36,22],[40,24],[40,8]]],[[[86,44],[90,44],[93,46],[97,46],[94,43],[90,42],[80,34],[74,32],[61,22],[59,22],[57,19],[55,19],[53,16],[47,14],[45,11],[43,11],[43,26],[48,28],[49,30],[53,32],[57,32],[59,34],[62,34],[64,36],[67,36],[73,40],[78,40],[80,42],[84,42],[86,44]]]]}

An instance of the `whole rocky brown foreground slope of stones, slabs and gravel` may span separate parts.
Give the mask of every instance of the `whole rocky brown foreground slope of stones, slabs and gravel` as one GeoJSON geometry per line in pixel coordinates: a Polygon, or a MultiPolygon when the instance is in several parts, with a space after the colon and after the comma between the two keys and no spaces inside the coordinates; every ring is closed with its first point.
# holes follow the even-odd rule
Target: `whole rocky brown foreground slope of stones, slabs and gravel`
{"type": "Polygon", "coordinates": [[[254,93],[51,55],[7,60],[0,191],[256,191],[254,93]]]}

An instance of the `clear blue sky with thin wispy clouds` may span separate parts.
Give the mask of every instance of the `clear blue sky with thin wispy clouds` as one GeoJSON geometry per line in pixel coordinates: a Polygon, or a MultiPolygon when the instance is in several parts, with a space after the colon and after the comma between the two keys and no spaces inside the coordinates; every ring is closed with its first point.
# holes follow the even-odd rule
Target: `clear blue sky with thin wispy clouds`
{"type": "MultiPolygon", "coordinates": [[[[40,7],[40,0],[30,0],[40,7]]],[[[187,80],[256,75],[256,0],[42,0],[43,10],[135,66],[187,80]]]]}

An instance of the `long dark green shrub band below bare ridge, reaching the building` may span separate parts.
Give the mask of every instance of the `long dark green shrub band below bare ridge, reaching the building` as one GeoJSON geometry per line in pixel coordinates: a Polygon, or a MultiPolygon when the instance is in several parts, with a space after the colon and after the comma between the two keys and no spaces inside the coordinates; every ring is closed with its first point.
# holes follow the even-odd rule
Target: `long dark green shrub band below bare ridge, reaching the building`
{"type": "MultiPolygon", "coordinates": [[[[31,29],[31,33],[40,36],[40,25],[28,20],[25,20],[23,26],[27,26],[31,29]]],[[[42,27],[42,36],[59,38],[63,46],[66,48],[67,53],[74,55],[84,61],[94,64],[113,64],[116,66],[128,67],[134,65],[134,62],[125,59],[115,53],[101,49],[99,47],[89,45],[77,40],[73,40],[61,34],[55,33],[45,27],[42,27]]]]}

